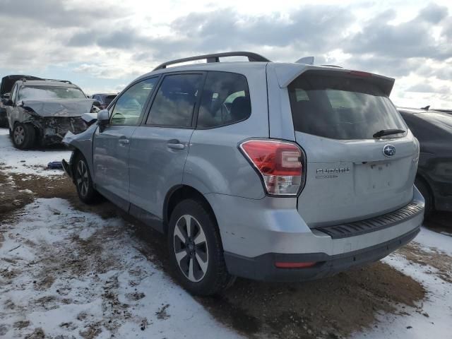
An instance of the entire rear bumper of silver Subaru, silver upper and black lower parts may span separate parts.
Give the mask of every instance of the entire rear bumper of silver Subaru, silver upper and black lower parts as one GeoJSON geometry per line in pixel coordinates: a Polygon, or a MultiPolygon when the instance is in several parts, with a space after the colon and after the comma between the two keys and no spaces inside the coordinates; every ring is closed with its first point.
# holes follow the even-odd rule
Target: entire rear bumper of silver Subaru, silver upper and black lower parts
{"type": "Polygon", "coordinates": [[[206,198],[218,221],[228,270],[258,280],[310,280],[377,261],[413,239],[424,219],[424,198],[415,187],[403,208],[323,230],[308,227],[296,198],[206,198]],[[316,265],[276,268],[276,261],[316,265]]]}

